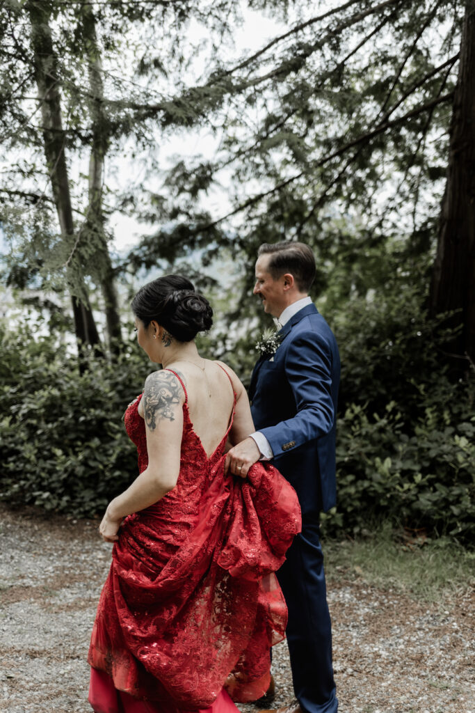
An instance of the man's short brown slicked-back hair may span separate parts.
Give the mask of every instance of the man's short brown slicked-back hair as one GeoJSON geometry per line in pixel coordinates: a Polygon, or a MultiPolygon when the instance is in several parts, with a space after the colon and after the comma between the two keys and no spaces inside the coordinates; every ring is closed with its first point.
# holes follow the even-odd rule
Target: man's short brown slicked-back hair
{"type": "Polygon", "coordinates": [[[273,279],[278,279],[286,272],[293,275],[300,292],[308,292],[315,279],[315,257],[308,245],[303,242],[265,242],[258,253],[271,255],[267,270],[273,279]]]}

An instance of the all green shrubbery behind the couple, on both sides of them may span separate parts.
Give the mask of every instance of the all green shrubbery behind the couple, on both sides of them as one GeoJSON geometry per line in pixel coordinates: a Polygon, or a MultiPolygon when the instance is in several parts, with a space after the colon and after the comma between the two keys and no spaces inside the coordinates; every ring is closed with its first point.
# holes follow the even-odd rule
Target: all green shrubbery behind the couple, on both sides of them
{"type": "MultiPolygon", "coordinates": [[[[403,286],[357,299],[335,325],[342,356],[337,432],[338,508],[325,531],[357,533],[386,519],[469,542],[474,535],[474,385],[454,382],[423,298],[403,286]]],[[[54,339],[0,332],[0,491],[18,503],[100,513],[137,475],[121,421],[154,368],[136,344],[85,374],[54,339]]],[[[440,333],[439,333],[440,334],[440,333]]],[[[221,339],[222,341],[222,339],[221,339]]],[[[217,340],[219,342],[219,339],[217,340]]],[[[213,358],[222,347],[202,339],[213,358]]],[[[227,355],[246,381],[254,340],[227,355]]]]}

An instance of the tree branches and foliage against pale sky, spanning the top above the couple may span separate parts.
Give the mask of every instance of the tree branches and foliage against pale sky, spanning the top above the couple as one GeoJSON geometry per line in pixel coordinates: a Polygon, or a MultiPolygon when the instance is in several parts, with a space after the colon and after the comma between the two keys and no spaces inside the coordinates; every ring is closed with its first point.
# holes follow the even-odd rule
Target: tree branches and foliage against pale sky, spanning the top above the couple
{"type": "Polygon", "coordinates": [[[300,239],[318,257],[315,294],[330,301],[392,279],[432,284],[427,306],[451,314],[450,349],[466,369],[473,17],[472,0],[9,0],[0,123],[11,160],[0,195],[17,241],[13,275],[61,273],[86,307],[91,277],[117,337],[120,272],[223,249],[249,265],[259,243],[300,239]],[[230,43],[246,8],[278,32],[239,54],[230,43]],[[212,132],[216,150],[167,172],[163,141],[190,131],[212,132]],[[154,180],[119,195],[105,158],[125,153],[154,180]],[[156,230],[114,266],[115,210],[156,230]]]}

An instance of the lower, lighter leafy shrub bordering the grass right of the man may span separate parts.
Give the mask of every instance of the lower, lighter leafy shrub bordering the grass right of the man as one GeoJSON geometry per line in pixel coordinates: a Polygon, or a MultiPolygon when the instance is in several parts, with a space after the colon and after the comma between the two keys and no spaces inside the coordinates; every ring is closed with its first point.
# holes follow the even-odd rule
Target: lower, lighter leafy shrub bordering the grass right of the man
{"type": "Polygon", "coordinates": [[[350,406],[338,421],[338,510],[326,530],[357,533],[385,518],[469,541],[475,535],[475,418],[428,408],[404,433],[394,402],[385,414],[350,406]]]}

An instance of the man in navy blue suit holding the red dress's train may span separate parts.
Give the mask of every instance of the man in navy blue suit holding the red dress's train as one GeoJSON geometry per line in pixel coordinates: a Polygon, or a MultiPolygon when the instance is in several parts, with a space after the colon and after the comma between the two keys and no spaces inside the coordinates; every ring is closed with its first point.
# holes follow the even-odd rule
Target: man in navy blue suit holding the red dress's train
{"type": "Polygon", "coordinates": [[[239,476],[246,476],[256,461],[272,459],[301,504],[302,532],[277,573],[288,607],[297,700],[278,713],[338,710],[319,513],[335,505],[340,357],[330,327],[308,297],[314,277],[315,260],[307,245],[278,242],[259,248],[254,294],[264,312],[278,318],[279,344],[274,354],[260,357],[252,374],[249,398],[258,431],[226,456],[226,468],[239,476]]]}

